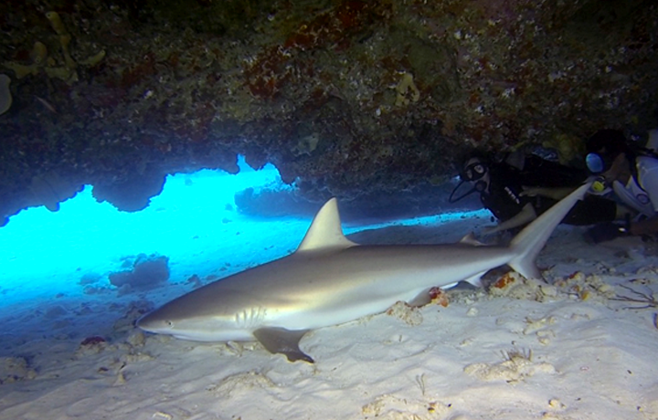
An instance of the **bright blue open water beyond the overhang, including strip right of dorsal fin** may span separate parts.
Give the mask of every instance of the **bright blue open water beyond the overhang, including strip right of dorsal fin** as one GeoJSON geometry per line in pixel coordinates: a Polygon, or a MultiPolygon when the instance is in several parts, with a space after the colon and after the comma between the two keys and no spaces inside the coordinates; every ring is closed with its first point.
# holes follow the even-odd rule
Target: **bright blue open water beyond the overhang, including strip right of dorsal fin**
{"type": "MultiPolygon", "coordinates": [[[[254,171],[240,159],[239,167],[237,175],[203,170],[168,176],[162,194],[140,212],[98,203],[88,185],[61,203],[58,212],[39,206],[13,215],[0,228],[0,341],[5,341],[5,351],[9,341],[111,333],[114,321],[135,302],[160,305],[200,284],[290,254],[311,218],[240,214],[234,203],[237,192],[292,186],[281,183],[272,165],[254,171]],[[126,270],[126,260],[139,254],[168,257],[168,282],[154,289],[117,289],[108,275],[126,270]],[[82,278],[91,280],[81,284],[82,278]],[[192,278],[196,280],[188,281],[192,278]]],[[[353,234],[386,226],[437,226],[477,215],[344,228],[345,234],[353,234]]],[[[416,240],[413,233],[407,236],[405,243],[416,240]]]]}

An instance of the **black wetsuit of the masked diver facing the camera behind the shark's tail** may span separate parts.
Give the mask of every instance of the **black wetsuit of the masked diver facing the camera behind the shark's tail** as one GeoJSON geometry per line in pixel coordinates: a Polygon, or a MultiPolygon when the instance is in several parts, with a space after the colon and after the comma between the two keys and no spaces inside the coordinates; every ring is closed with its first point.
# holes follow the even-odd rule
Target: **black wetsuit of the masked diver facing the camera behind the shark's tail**
{"type": "MultiPolygon", "coordinates": [[[[557,163],[553,164],[557,165],[557,163]]],[[[585,180],[584,177],[580,179],[578,172],[576,172],[577,170],[572,173],[556,173],[557,176],[554,176],[551,174],[552,171],[559,168],[570,168],[561,165],[547,166],[550,169],[543,168],[546,171],[542,173],[541,171],[532,171],[533,168],[527,164],[524,171],[520,171],[507,163],[490,164],[489,173],[491,182],[489,184],[489,192],[480,194],[480,199],[484,207],[503,222],[518,215],[528,203],[533,206],[537,215],[541,215],[552,205],[555,205],[557,200],[541,195],[534,197],[522,196],[520,194],[523,192],[524,185],[576,187],[585,180]],[[560,184],[557,184],[557,178],[560,178],[560,184]]],[[[613,221],[616,214],[617,204],[614,201],[594,195],[586,195],[584,200],[578,201],[574,205],[568,215],[562,220],[562,223],[577,226],[595,225],[613,221]]]]}

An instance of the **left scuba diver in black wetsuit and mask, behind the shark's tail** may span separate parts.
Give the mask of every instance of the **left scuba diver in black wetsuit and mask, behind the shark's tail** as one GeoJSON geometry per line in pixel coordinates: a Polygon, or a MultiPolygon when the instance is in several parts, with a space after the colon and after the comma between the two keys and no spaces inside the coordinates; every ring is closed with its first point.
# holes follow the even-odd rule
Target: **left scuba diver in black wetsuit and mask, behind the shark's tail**
{"type": "MultiPolygon", "coordinates": [[[[483,230],[484,235],[489,235],[527,225],[588,178],[586,171],[536,155],[525,155],[521,162],[521,165],[508,161],[493,162],[482,152],[472,152],[462,164],[462,181],[452,191],[449,201],[454,203],[467,195],[480,194],[483,206],[499,222],[497,226],[483,230]],[[462,184],[471,185],[471,189],[454,197],[462,184]]],[[[627,214],[628,210],[614,201],[588,194],[571,209],[562,223],[595,225],[627,214]]]]}

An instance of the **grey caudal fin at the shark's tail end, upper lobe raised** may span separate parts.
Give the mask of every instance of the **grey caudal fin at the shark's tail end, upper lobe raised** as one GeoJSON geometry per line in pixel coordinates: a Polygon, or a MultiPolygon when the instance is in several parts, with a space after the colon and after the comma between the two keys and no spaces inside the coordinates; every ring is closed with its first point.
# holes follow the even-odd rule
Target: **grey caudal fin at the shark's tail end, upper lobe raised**
{"type": "Polygon", "coordinates": [[[590,185],[591,183],[588,183],[578,187],[576,191],[568,194],[543,215],[537,217],[530,225],[525,226],[524,230],[512,239],[510,247],[515,252],[515,257],[508,263],[511,268],[525,278],[541,278],[541,273],[535,264],[539,251],[546,245],[548,237],[568,214],[571,207],[582,199],[590,185]]]}

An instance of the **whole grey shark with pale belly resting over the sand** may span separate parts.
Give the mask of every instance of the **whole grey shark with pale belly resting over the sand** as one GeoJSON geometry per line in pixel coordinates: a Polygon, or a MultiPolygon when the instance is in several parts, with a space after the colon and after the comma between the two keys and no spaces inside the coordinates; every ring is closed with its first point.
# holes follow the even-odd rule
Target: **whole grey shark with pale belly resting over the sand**
{"type": "Polygon", "coordinates": [[[427,302],[432,288],[448,289],[460,281],[481,286],[487,271],[504,265],[525,278],[541,278],[537,255],[588,189],[589,184],[580,186],[507,246],[470,239],[358,245],[344,235],[332,198],[292,254],[188,292],[145,314],[136,325],[182,340],[260,341],[290,362],[313,363],[300,349],[308,331],[384,312],[398,301],[427,302]]]}

